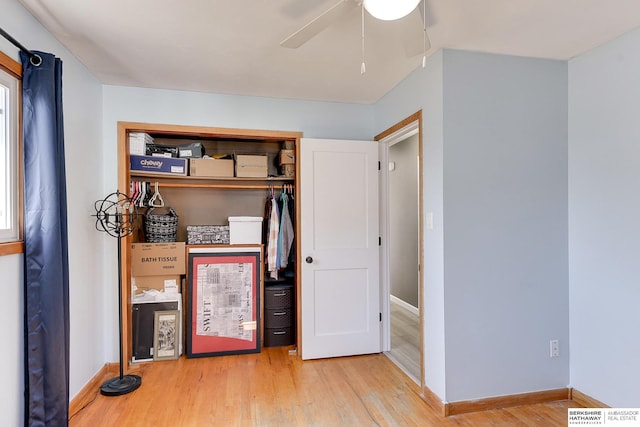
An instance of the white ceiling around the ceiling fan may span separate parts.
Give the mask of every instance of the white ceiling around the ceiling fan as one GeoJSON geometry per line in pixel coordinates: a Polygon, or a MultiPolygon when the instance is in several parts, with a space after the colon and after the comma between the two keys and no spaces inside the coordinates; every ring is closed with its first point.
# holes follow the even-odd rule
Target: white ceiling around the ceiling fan
{"type": "MultiPolygon", "coordinates": [[[[354,7],[297,49],[282,41],[340,0],[20,0],[104,84],[373,103],[420,67],[418,10],[354,7]]],[[[353,0],[348,0],[353,1],[353,0]]],[[[639,0],[427,0],[431,49],[566,60],[640,26],[639,0]]],[[[420,5],[419,8],[422,6],[420,5]]]]}

